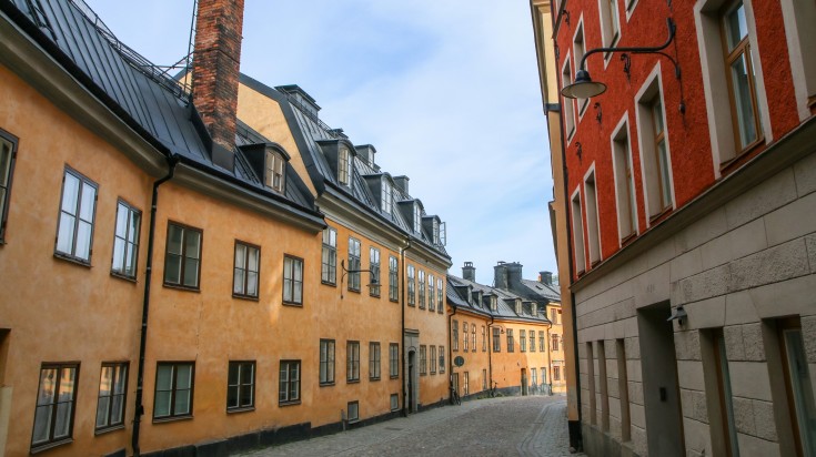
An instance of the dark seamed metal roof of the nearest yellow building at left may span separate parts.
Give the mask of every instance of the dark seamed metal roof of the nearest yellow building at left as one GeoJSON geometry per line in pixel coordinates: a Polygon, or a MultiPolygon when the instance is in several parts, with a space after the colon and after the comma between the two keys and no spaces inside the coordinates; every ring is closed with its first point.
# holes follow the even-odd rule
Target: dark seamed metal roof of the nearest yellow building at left
{"type": "MultiPolygon", "coordinates": [[[[165,70],[120,42],[82,0],[0,0],[0,9],[62,64],[85,89],[164,154],[178,154],[199,170],[272,197],[281,209],[322,219],[314,199],[288,166],[286,189],[279,195],[263,186],[235,150],[235,166],[212,163],[205,133],[185,88],[165,70]]],[[[236,144],[265,142],[243,125],[236,144]]]]}

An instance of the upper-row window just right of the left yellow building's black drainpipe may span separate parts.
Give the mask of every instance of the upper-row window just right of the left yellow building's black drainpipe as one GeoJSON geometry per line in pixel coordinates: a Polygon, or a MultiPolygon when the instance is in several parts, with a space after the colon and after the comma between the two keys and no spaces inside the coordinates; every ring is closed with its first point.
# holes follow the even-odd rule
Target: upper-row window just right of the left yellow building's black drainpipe
{"type": "Polygon", "coordinates": [[[199,288],[201,277],[201,230],[168,224],[164,285],[199,288]]]}

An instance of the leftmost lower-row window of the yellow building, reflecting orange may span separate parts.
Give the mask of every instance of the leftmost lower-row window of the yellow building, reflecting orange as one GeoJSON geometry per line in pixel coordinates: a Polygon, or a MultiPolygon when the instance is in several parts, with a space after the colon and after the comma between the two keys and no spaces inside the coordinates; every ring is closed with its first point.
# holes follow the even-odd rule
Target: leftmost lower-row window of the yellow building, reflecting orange
{"type": "Polygon", "coordinates": [[[70,440],[73,434],[73,409],[77,402],[77,364],[43,364],[34,409],[31,448],[70,440]]]}

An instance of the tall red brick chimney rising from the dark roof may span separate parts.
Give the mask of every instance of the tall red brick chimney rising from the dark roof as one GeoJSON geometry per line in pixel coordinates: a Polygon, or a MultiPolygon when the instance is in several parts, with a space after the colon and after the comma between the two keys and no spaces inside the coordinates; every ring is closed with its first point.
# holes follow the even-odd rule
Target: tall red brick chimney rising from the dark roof
{"type": "Polygon", "coordinates": [[[193,103],[212,136],[212,162],[233,170],[243,0],[199,0],[193,103]]]}

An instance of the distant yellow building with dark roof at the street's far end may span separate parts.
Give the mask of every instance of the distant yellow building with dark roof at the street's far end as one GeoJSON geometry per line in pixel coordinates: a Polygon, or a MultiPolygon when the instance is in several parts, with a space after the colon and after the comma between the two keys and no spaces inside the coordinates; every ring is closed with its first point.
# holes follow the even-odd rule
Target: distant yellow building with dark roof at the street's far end
{"type": "Polygon", "coordinates": [[[561,313],[552,283],[521,280],[518,264],[496,265],[494,287],[475,282],[471,262],[462,271],[447,276],[452,387],[461,397],[563,393],[561,335],[547,317],[561,313]]]}

